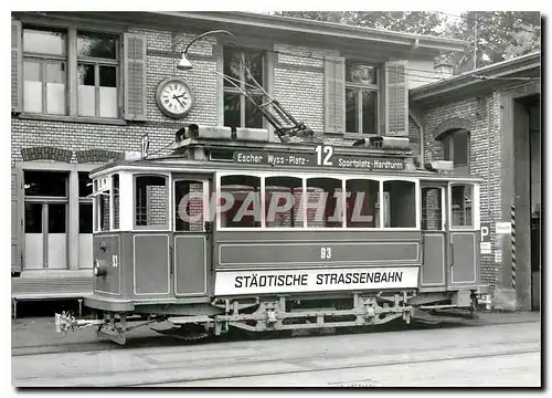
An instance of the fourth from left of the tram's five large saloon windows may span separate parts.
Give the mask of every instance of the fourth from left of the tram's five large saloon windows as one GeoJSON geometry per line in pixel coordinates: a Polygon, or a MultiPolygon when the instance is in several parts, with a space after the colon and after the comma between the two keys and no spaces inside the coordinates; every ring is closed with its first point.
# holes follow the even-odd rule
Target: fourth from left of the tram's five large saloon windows
{"type": "Polygon", "coordinates": [[[376,228],[379,226],[378,199],[380,182],[368,179],[346,181],[347,227],[376,228]]]}

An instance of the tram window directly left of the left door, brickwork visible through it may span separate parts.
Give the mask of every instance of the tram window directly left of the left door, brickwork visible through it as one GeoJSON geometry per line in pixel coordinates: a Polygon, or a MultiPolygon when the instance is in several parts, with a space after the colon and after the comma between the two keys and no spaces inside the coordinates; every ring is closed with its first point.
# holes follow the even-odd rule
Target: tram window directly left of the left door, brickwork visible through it
{"type": "Polygon", "coordinates": [[[135,179],[135,224],[164,229],[168,189],[164,176],[137,176],[135,179]]]}

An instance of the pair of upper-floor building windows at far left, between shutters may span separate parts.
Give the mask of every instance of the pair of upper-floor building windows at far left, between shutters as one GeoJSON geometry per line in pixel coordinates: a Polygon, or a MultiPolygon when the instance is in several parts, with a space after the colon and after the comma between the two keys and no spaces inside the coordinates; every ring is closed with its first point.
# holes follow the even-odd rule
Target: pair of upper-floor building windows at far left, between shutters
{"type": "Polygon", "coordinates": [[[76,85],[77,116],[117,118],[119,63],[118,35],[24,27],[23,111],[65,116],[71,108],[67,86],[76,85]]]}

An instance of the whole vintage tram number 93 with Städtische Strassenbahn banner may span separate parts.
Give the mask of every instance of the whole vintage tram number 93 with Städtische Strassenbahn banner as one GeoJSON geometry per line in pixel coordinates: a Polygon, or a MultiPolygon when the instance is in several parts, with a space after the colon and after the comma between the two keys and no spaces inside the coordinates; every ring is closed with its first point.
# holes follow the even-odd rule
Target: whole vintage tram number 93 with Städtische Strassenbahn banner
{"type": "Polygon", "coordinates": [[[100,316],[57,314],[57,329],[97,325],[123,344],[132,316],[215,335],[365,326],[474,310],[488,293],[479,178],[421,170],[401,139],[332,147],[194,132],[171,156],[91,174],[84,304],[100,316]]]}

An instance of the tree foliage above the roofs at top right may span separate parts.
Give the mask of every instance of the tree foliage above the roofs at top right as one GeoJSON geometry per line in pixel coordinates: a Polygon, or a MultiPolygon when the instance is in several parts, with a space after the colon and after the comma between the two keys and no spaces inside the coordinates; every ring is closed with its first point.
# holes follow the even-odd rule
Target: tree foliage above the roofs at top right
{"type": "Polygon", "coordinates": [[[481,67],[541,48],[540,12],[468,11],[449,15],[429,11],[282,11],[276,14],[465,40],[469,45],[464,52],[443,53],[437,59],[450,62],[455,73],[473,70],[474,54],[477,67],[481,67]]]}

